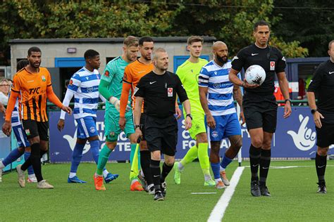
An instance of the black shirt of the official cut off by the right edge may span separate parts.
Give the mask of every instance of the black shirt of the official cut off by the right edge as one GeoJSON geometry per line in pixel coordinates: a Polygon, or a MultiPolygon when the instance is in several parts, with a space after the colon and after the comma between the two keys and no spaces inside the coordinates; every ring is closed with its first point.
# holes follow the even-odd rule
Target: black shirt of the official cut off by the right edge
{"type": "Polygon", "coordinates": [[[334,114],[334,63],[327,60],[318,66],[307,91],[316,93],[321,113],[334,114]]]}

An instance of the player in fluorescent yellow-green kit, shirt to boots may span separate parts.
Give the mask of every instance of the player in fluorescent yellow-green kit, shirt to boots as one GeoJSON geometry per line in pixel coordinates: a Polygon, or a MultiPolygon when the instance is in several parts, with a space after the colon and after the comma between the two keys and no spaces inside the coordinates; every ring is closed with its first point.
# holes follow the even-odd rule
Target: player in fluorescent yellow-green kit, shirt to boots
{"type": "Polygon", "coordinates": [[[208,156],[208,139],[204,124],[204,110],[199,101],[198,76],[199,71],[208,63],[207,60],[199,58],[202,53],[203,39],[202,37],[192,36],[187,40],[187,49],[190,51],[190,58],[185,61],[176,70],[176,74],[187,92],[192,110],[192,128],[189,130],[190,136],[196,140],[196,145],[188,150],[185,157],[180,162],[174,164],[174,182],[181,183],[181,172],[186,164],[192,162],[198,157],[204,174],[204,185],[214,186],[215,181],[212,180],[210,174],[210,162],[208,156]]]}

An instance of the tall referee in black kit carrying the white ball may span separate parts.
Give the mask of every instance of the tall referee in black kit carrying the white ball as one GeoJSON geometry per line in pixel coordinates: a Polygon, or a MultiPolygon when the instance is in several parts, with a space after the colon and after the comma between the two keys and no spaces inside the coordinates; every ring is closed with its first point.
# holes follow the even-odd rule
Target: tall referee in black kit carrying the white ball
{"type": "Polygon", "coordinates": [[[259,197],[271,195],[266,186],[266,178],[271,162],[271,139],[276,131],[277,122],[277,103],[275,96],[273,96],[275,74],[285,98],[284,118],[291,115],[291,100],[285,77],[285,58],[278,48],[268,45],[270,37],[268,23],[263,20],[256,22],[253,31],[255,43],[242,48],[233,58],[229,79],[233,84],[245,88],[242,107],[251,138],[249,148],[249,162],[252,172],[251,193],[253,196],[259,197]],[[247,81],[241,81],[237,77],[237,73],[242,68],[247,70],[251,65],[261,65],[266,71],[266,79],[261,86],[250,85],[247,81]],[[260,176],[258,176],[259,166],[260,176]]]}

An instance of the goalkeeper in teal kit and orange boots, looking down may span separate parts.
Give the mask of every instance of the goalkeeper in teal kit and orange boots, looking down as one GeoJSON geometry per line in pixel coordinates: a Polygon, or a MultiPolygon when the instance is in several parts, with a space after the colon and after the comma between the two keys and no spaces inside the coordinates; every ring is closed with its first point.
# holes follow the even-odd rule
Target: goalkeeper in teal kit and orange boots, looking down
{"type": "MultiPolygon", "coordinates": [[[[101,81],[99,84],[99,93],[107,99],[106,111],[104,115],[104,135],[106,136],[106,144],[100,152],[97,171],[94,174],[94,185],[96,190],[106,190],[103,183],[102,171],[104,166],[106,166],[106,162],[108,162],[109,155],[113,149],[115,149],[118,136],[121,133],[120,127],[118,126],[118,119],[120,117],[119,99],[122,92],[122,79],[124,70],[128,64],[137,59],[138,55],[139,42],[136,37],[129,36],[125,38],[123,44],[123,55],[114,58],[106,65],[104,74],[101,76],[101,81]]],[[[131,100],[130,97],[129,100],[131,100]]],[[[132,120],[132,110],[129,105],[126,108],[126,111],[126,125],[124,132],[131,143],[130,162],[132,163],[133,156],[135,155],[137,141],[135,141],[135,129],[132,120]]],[[[130,190],[144,190],[140,182],[137,180],[137,177],[131,179],[130,190]]]]}

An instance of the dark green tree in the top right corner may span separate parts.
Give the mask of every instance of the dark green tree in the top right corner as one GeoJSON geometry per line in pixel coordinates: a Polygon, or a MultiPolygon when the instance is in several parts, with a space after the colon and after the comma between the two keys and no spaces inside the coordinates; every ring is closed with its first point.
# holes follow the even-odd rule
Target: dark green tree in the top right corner
{"type": "Polygon", "coordinates": [[[274,16],[281,22],[273,29],[284,41],[300,42],[312,57],[328,56],[328,42],[334,39],[334,1],[275,1],[274,16]]]}

